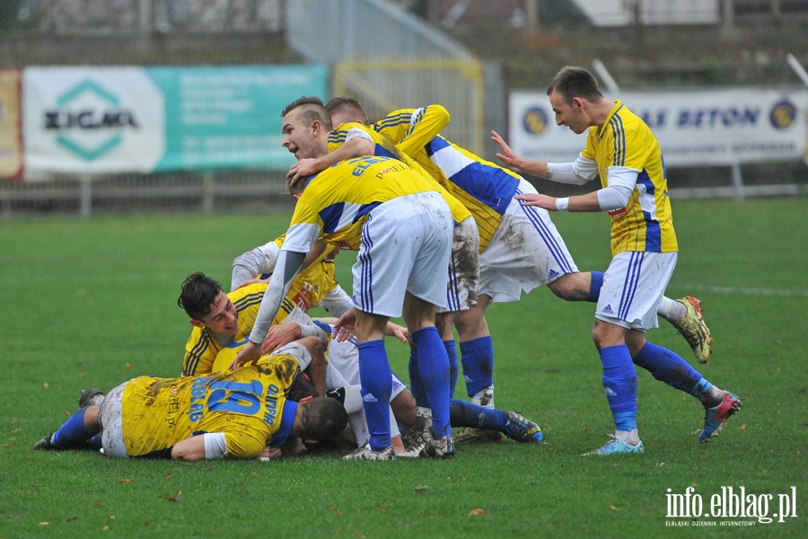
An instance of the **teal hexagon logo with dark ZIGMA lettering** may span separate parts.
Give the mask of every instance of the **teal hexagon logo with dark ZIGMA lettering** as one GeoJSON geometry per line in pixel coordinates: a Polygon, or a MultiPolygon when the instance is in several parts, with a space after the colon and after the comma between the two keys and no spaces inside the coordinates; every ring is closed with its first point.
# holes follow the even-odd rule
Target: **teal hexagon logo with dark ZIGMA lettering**
{"type": "Polygon", "coordinates": [[[57,131],[57,143],[86,161],[107,154],[123,141],[127,129],[138,129],[134,110],[119,97],[87,79],[60,95],[57,109],[45,110],[45,128],[57,131]]]}

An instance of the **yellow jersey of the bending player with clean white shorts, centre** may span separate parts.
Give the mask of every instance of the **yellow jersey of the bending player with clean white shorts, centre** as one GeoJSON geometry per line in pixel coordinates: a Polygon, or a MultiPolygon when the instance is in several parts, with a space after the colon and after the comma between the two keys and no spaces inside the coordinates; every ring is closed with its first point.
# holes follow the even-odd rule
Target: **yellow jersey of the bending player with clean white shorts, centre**
{"type": "Polygon", "coordinates": [[[283,249],[309,252],[322,238],[358,251],[373,208],[422,192],[437,191],[434,183],[398,159],[364,155],[335,163],[307,181],[294,205],[283,249]]]}

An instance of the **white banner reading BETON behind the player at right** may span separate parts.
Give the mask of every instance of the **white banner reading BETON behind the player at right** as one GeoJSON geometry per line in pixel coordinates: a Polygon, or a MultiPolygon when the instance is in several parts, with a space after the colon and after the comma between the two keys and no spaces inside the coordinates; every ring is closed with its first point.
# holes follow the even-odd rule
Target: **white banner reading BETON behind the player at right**
{"type": "MultiPolygon", "coordinates": [[[[806,155],[808,92],[623,92],[615,99],[654,131],[668,166],[788,161],[806,155]]],[[[527,159],[568,162],[584,149],[585,134],[558,127],[543,92],[512,92],[509,121],[507,142],[527,159]]]]}

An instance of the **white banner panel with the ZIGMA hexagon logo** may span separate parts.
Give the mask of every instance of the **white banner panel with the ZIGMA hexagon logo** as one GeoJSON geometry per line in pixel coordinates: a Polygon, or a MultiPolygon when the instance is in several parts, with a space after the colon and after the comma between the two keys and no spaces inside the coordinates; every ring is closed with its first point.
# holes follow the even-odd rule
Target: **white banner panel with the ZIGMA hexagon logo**
{"type": "Polygon", "coordinates": [[[162,92],[139,67],[28,67],[26,177],[149,172],[165,151],[162,92]]]}

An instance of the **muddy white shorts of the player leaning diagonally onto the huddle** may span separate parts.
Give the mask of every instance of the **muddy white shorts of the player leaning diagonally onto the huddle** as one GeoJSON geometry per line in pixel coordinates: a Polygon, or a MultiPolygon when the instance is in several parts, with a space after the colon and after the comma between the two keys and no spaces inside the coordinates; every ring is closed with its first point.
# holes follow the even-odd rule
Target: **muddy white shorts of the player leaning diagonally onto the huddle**
{"type": "MultiPolygon", "coordinates": [[[[528,181],[519,181],[516,194],[536,192],[528,181]]],[[[548,211],[511,199],[491,242],[479,255],[479,294],[495,302],[518,301],[522,291],[577,270],[548,211]]]]}

